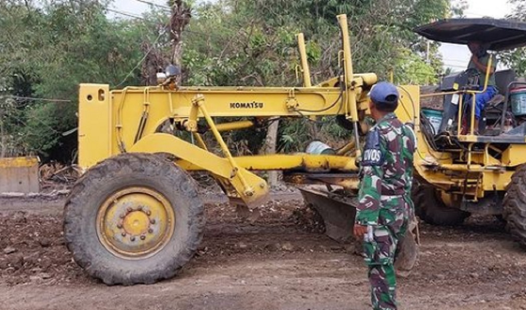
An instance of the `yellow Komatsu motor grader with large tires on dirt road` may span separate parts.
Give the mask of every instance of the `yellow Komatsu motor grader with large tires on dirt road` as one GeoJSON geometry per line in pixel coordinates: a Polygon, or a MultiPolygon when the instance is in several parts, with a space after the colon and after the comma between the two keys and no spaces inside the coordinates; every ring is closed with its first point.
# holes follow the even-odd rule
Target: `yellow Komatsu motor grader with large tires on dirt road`
{"type": "MultiPolygon", "coordinates": [[[[153,87],[80,85],[78,160],[86,170],[64,211],[74,260],[106,284],[174,276],[196,252],[205,225],[204,203],[189,171],[208,172],[232,203],[249,208],[261,205],[269,190],[257,171],[281,170],[289,182],[326,184],[327,190],[305,190],[304,197],[322,215],[329,236],[346,239],[355,212],[349,195],[359,183],[360,132],[368,130],[368,92],[377,76],[353,73],[347,16],[338,20],[343,74],[319,85],[311,85],[301,34],[303,87],[185,87],[175,84],[176,70],[167,70],[153,87]],[[276,118],[320,116],[338,116],[354,139],[335,154],[234,157],[221,136],[276,118]],[[246,120],[218,123],[219,117],[246,120]],[[204,131],[211,132],[221,156],[209,150],[204,131]]],[[[418,137],[420,216],[451,224],[478,209],[503,213],[512,233],[526,242],[524,135],[433,132],[421,117],[419,86],[399,91],[397,116],[413,123],[418,137]],[[507,188],[512,195],[504,197],[507,188]],[[491,208],[492,203],[497,206],[491,208]]],[[[477,91],[460,86],[439,95],[463,98],[477,91]]],[[[461,119],[467,105],[462,99],[457,105],[461,119]]],[[[505,104],[504,110],[509,110],[505,104]]]]}

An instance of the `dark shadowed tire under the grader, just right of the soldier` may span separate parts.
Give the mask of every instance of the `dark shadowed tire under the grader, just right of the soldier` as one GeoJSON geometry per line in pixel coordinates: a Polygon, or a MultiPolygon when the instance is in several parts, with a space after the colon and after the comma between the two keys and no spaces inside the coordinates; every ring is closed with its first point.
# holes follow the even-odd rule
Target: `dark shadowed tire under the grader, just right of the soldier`
{"type": "Polygon", "coordinates": [[[439,226],[460,225],[469,216],[468,212],[446,206],[436,190],[426,183],[413,183],[414,212],[426,223],[439,226]]]}

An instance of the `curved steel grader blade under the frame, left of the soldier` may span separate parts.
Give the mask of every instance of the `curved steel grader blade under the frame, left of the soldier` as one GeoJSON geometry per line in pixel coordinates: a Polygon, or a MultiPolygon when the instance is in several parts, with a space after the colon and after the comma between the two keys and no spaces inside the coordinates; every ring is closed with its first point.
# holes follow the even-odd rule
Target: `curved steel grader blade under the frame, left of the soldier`
{"type": "Polygon", "coordinates": [[[321,215],[325,233],[336,241],[344,242],[352,237],[356,207],[343,195],[317,189],[300,189],[305,202],[321,215]]]}

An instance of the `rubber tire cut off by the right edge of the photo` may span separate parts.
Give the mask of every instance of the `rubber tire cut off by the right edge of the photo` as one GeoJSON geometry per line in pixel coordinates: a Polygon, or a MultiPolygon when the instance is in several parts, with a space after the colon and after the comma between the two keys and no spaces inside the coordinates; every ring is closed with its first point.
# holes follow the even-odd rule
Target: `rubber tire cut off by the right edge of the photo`
{"type": "Polygon", "coordinates": [[[502,205],[506,228],[526,246],[526,165],[513,173],[502,205]]]}

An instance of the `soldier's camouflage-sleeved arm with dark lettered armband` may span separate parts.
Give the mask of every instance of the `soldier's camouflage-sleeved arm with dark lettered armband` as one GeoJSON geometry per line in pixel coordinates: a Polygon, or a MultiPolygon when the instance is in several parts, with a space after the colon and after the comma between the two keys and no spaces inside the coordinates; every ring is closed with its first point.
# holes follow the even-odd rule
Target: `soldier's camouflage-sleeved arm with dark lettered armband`
{"type": "Polygon", "coordinates": [[[363,150],[363,178],[358,194],[356,223],[360,225],[377,225],[382,195],[383,152],[387,143],[381,138],[378,129],[373,129],[367,135],[366,147],[363,150]]]}

